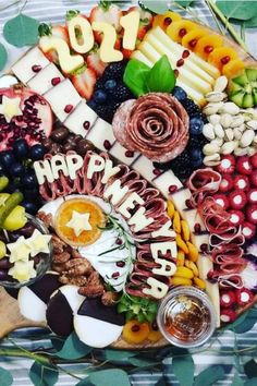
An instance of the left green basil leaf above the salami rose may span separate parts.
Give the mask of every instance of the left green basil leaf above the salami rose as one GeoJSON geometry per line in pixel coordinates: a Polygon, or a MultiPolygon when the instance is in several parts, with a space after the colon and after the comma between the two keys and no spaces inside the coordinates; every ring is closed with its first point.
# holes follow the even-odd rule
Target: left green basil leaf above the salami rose
{"type": "Polygon", "coordinates": [[[131,59],[128,61],[123,82],[136,97],[147,93],[146,77],[149,72],[150,68],[139,60],[131,59]]]}

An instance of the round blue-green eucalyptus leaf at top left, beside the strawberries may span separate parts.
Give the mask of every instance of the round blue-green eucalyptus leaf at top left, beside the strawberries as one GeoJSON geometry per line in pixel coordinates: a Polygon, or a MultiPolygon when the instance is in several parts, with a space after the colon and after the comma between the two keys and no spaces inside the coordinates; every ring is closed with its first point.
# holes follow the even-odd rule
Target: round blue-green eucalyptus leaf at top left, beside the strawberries
{"type": "Polygon", "coordinates": [[[36,19],[20,13],[4,24],[3,36],[12,46],[33,46],[38,40],[38,26],[36,19]]]}

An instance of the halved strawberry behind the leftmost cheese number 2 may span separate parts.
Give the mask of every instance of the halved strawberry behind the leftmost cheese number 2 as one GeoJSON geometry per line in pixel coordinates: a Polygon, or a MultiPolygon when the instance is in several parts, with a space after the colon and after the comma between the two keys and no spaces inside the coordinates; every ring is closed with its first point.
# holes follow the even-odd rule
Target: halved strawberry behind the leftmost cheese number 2
{"type": "MultiPolygon", "coordinates": [[[[51,26],[51,25],[42,23],[38,27],[38,34],[39,34],[40,37],[42,37],[42,36],[60,37],[61,39],[65,40],[66,44],[70,46],[70,39],[69,39],[68,29],[63,25],[53,25],[53,26],[51,26]]],[[[39,41],[38,41],[38,46],[42,50],[42,48],[40,46],[40,38],[39,38],[39,41]]],[[[50,62],[59,64],[58,53],[56,52],[56,50],[44,52],[44,55],[47,57],[48,60],[50,60],[50,62]]]]}

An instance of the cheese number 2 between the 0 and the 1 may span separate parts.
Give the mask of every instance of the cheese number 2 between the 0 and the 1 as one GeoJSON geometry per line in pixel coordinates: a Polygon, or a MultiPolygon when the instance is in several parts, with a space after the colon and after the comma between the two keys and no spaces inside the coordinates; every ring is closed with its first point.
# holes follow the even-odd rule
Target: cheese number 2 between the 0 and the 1
{"type": "Polygon", "coordinates": [[[115,28],[103,22],[93,22],[91,27],[94,31],[103,33],[103,38],[100,46],[100,59],[105,63],[109,62],[119,62],[123,59],[121,51],[114,49],[117,41],[117,32],[115,28]]]}

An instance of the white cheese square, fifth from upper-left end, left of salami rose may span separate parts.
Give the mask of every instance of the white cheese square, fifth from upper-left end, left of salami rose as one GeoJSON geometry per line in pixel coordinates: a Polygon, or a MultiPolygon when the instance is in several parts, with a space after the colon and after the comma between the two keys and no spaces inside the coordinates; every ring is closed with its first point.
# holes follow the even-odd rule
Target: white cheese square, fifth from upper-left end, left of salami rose
{"type": "Polygon", "coordinates": [[[98,118],[86,138],[100,150],[110,150],[115,142],[112,125],[103,119],[98,118]]]}

